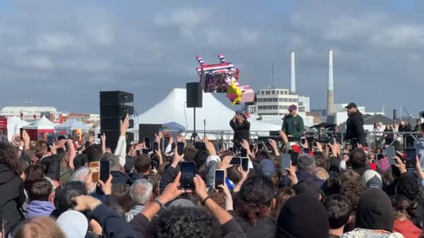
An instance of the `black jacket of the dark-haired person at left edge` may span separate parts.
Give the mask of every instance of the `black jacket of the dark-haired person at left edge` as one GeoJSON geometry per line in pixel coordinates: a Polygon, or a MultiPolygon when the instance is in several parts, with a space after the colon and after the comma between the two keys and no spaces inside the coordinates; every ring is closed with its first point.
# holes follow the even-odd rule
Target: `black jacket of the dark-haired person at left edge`
{"type": "Polygon", "coordinates": [[[20,207],[25,201],[23,181],[7,165],[0,164],[0,212],[7,221],[6,233],[22,220],[20,207]]]}

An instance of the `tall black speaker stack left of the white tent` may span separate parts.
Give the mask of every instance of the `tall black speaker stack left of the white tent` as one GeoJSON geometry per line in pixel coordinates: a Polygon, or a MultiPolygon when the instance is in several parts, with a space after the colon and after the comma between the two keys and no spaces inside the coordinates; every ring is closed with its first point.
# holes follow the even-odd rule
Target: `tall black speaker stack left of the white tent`
{"type": "MultiPolygon", "coordinates": [[[[106,135],[106,146],[114,150],[120,135],[120,123],[126,114],[134,115],[134,94],[122,91],[100,91],[100,133],[106,135]]],[[[134,120],[129,120],[129,128],[134,120]]],[[[127,142],[134,141],[134,133],[126,133],[127,142]]]]}

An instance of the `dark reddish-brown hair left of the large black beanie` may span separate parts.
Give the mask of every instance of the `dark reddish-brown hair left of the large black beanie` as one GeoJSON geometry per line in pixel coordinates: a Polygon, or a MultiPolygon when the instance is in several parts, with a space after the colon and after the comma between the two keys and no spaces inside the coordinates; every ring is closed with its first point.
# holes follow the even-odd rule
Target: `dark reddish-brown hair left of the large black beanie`
{"type": "Polygon", "coordinates": [[[273,182],[268,177],[248,178],[235,198],[235,211],[256,225],[258,219],[269,216],[269,206],[275,196],[273,182]]]}

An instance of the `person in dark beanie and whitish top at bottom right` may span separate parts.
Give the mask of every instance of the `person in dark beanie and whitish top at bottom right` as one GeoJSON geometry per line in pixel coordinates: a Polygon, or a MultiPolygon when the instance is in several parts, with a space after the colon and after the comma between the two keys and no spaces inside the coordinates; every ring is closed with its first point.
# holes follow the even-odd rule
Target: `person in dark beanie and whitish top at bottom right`
{"type": "Polygon", "coordinates": [[[356,210],[355,230],[342,238],[401,238],[393,232],[394,211],[389,196],[382,189],[370,188],[360,196],[356,210]]]}

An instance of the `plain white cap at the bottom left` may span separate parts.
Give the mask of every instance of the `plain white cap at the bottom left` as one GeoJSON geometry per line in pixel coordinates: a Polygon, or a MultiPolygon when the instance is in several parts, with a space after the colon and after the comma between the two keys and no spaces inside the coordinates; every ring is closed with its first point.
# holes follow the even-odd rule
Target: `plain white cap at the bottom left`
{"type": "Polygon", "coordinates": [[[83,213],[69,210],[56,220],[57,225],[64,231],[67,238],[84,238],[88,230],[88,220],[83,213]]]}

